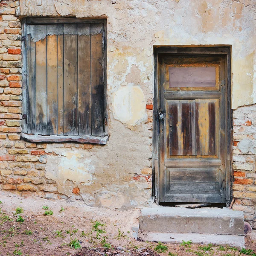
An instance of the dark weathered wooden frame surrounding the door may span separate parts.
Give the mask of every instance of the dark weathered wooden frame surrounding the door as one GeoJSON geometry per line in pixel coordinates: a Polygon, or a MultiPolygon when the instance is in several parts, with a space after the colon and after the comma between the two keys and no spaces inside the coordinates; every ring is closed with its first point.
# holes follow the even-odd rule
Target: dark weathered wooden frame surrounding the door
{"type": "Polygon", "coordinates": [[[233,117],[231,109],[231,47],[230,46],[170,46],[161,47],[154,46],[154,101],[153,101],[153,155],[152,155],[152,195],[157,204],[160,203],[159,189],[160,189],[160,122],[158,119],[158,112],[160,106],[160,68],[159,68],[159,53],[172,53],[172,55],[182,54],[209,54],[209,55],[224,55],[226,58],[226,74],[227,74],[227,88],[226,88],[226,136],[227,136],[227,169],[226,169],[226,205],[229,206],[232,200],[232,150],[233,150],[233,117]]]}

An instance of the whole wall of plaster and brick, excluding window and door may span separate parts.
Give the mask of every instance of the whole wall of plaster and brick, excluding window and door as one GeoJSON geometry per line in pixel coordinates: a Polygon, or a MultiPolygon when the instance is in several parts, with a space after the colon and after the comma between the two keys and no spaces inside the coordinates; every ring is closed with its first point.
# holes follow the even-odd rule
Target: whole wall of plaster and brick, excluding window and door
{"type": "Polygon", "coordinates": [[[235,207],[240,203],[249,213],[246,218],[253,221],[256,151],[245,152],[241,147],[247,140],[249,148],[256,147],[252,146],[256,129],[250,117],[255,109],[251,104],[256,103],[254,0],[6,0],[0,5],[2,193],[33,192],[41,197],[83,199],[86,204],[106,207],[148,205],[153,46],[231,45],[233,108],[248,105],[235,110],[234,116],[241,113],[234,119],[234,138],[241,140],[240,144],[235,142],[234,151],[234,195],[241,198],[235,207]],[[107,18],[107,145],[20,141],[21,31],[17,17],[37,15],[107,18]]]}

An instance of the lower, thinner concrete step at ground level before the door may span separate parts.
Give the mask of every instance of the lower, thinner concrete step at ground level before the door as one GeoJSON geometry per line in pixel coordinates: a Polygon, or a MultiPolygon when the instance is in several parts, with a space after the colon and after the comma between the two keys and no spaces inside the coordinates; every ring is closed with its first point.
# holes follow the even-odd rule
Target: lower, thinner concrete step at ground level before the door
{"type": "Polygon", "coordinates": [[[160,241],[165,243],[180,244],[183,241],[191,240],[193,244],[216,244],[245,248],[244,236],[235,235],[205,235],[195,233],[140,233],[140,239],[143,241],[160,241]]]}

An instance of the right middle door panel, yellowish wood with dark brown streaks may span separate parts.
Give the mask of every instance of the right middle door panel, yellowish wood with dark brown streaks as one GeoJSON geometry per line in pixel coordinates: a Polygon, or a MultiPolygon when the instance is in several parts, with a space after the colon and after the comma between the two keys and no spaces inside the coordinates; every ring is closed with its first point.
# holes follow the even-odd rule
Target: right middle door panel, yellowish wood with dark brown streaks
{"type": "Polygon", "coordinates": [[[218,157],[218,99],[195,100],[196,157],[218,157]]]}

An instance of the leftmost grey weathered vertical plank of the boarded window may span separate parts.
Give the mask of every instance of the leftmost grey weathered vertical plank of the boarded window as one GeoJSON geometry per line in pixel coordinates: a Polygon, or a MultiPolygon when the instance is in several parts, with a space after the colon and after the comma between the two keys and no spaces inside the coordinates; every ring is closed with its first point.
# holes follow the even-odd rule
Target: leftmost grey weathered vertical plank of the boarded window
{"type": "Polygon", "coordinates": [[[30,34],[28,35],[27,46],[27,133],[36,133],[36,63],[35,63],[35,43],[32,41],[30,34]]]}

